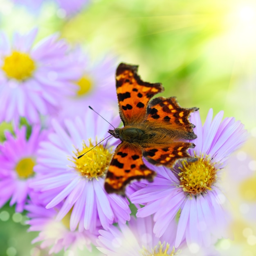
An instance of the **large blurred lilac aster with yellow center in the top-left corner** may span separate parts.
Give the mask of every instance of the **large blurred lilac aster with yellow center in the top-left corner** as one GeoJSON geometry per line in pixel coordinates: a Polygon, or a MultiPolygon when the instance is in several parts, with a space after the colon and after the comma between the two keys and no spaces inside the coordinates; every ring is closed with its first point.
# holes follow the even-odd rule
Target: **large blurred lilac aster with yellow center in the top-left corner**
{"type": "Polygon", "coordinates": [[[0,33],[0,121],[26,117],[38,123],[40,115],[52,115],[65,94],[74,87],[79,67],[68,55],[68,45],[49,36],[35,46],[37,30],[15,33],[12,45],[0,33]]]}

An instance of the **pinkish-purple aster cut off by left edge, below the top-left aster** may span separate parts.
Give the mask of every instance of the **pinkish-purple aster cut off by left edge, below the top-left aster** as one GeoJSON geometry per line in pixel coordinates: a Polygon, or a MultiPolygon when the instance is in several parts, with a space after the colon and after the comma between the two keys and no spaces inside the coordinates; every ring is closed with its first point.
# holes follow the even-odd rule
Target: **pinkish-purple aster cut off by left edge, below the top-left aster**
{"type": "Polygon", "coordinates": [[[0,145],[0,207],[8,200],[10,205],[16,203],[16,211],[21,212],[27,196],[32,192],[29,188],[34,178],[38,145],[45,139],[45,132],[34,126],[29,139],[26,139],[26,128],[15,129],[15,136],[5,132],[6,141],[0,145]]]}

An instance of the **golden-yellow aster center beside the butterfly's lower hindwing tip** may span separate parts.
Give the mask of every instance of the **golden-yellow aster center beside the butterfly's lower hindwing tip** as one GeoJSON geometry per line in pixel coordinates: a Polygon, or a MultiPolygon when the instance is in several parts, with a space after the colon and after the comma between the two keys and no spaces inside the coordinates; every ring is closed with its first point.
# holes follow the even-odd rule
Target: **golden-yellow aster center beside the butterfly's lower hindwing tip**
{"type": "Polygon", "coordinates": [[[203,154],[195,162],[183,161],[180,170],[178,174],[180,187],[191,195],[211,190],[211,186],[217,179],[218,169],[215,168],[215,163],[211,162],[209,156],[203,154]]]}

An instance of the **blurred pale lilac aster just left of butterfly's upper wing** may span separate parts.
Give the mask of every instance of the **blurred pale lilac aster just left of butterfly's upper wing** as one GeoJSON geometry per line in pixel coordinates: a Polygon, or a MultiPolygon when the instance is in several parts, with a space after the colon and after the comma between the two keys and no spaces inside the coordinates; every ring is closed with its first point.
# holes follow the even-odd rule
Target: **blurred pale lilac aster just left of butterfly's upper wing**
{"type": "Polygon", "coordinates": [[[74,51],[73,57],[78,63],[77,65],[81,67],[81,73],[79,79],[74,81],[72,94],[67,95],[60,102],[62,111],[58,119],[72,118],[74,113],[83,117],[84,113],[81,109],[88,106],[97,107],[97,110],[101,108],[114,109],[117,103],[115,60],[106,56],[100,61],[91,63],[89,56],[80,48],[74,51]]]}

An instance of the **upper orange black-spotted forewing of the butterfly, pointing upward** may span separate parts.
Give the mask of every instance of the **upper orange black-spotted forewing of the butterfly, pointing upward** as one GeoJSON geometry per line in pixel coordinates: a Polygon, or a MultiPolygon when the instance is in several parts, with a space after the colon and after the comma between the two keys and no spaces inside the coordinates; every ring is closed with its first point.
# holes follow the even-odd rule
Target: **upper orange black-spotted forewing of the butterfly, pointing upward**
{"type": "Polygon", "coordinates": [[[161,83],[147,83],[137,74],[138,66],[119,64],[116,72],[120,117],[127,124],[141,123],[146,118],[148,101],[164,88],[161,83]]]}

